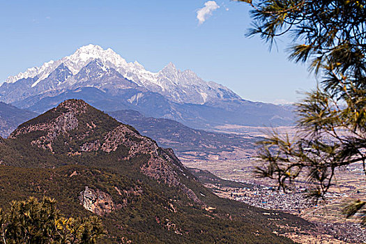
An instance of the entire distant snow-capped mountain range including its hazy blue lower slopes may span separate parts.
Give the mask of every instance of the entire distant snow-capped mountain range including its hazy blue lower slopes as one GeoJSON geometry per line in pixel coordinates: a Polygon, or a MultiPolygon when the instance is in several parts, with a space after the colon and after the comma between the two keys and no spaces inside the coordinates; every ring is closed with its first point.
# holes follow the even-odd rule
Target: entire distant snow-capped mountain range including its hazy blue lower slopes
{"type": "Polygon", "coordinates": [[[243,100],[227,87],[206,82],[192,70],[178,70],[173,63],[153,73],[98,45],[29,68],[0,86],[0,101],[38,113],[70,98],[104,111],[133,109],[199,129],[293,123],[291,107],[243,100]]]}

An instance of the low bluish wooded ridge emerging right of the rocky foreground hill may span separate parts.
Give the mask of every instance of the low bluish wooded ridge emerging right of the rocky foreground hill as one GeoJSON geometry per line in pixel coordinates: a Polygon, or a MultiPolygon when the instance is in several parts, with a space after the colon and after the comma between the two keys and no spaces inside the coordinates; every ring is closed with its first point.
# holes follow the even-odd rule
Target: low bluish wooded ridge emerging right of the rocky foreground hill
{"type": "Polygon", "coordinates": [[[243,138],[237,135],[195,130],[171,119],[145,117],[134,110],[108,112],[121,123],[135,127],[142,135],[151,137],[164,148],[173,148],[178,155],[195,152],[195,158],[207,159],[208,155],[232,152],[236,148],[254,149],[259,137],[243,138]],[[197,155],[198,152],[198,155],[197,155]]]}

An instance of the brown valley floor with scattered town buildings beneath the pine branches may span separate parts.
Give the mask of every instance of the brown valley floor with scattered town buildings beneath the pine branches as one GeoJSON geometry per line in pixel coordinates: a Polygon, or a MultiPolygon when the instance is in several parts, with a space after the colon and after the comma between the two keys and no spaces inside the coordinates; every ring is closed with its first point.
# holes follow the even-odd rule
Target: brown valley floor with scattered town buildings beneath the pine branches
{"type": "Polygon", "coordinates": [[[347,167],[337,171],[336,184],[330,189],[326,201],[314,205],[305,198],[305,181],[298,181],[296,188],[289,194],[277,192],[275,182],[256,178],[252,173],[255,165],[260,165],[256,158],[244,160],[183,160],[187,167],[208,170],[220,178],[252,185],[251,188],[237,188],[222,184],[206,183],[220,197],[243,201],[252,206],[275,209],[298,215],[317,224],[323,235],[294,236],[300,243],[365,243],[366,229],[358,220],[346,220],[341,215],[342,206],[351,200],[366,198],[366,178],[362,165],[347,167]]]}

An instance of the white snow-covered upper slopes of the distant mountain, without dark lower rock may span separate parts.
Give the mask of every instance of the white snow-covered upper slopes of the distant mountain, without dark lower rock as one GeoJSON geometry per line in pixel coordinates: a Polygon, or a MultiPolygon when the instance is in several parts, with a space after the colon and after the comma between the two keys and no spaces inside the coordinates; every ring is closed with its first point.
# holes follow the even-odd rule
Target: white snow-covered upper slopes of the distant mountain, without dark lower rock
{"type": "MultiPolygon", "coordinates": [[[[213,99],[240,98],[225,86],[215,82],[205,82],[191,70],[180,71],[176,69],[174,64],[169,63],[165,68],[160,70],[160,72],[152,73],[146,70],[144,66],[137,61],[128,63],[112,49],[109,48],[105,50],[98,45],[86,45],[77,49],[74,54],[66,56],[63,59],[49,61],[39,68],[29,68],[24,73],[8,77],[6,83],[15,84],[21,79],[32,78],[33,83],[30,87],[22,87],[23,89],[28,90],[24,92],[31,95],[49,92],[49,89],[61,89],[61,87],[66,89],[66,84],[77,84],[79,80],[76,79],[75,75],[80,77],[80,70],[96,59],[100,60],[102,66],[105,67],[105,70],[102,71],[107,72],[107,70],[112,68],[126,79],[148,89],[148,91],[160,93],[173,102],[204,104],[204,102],[213,99]],[[60,82],[59,84],[56,84],[57,82],[54,81],[52,82],[52,85],[45,85],[45,80],[47,80],[49,75],[61,65],[63,65],[63,68],[70,70],[71,76],[74,76],[71,78],[68,77],[71,81],[66,83],[61,82],[63,83],[62,86],[60,82]],[[38,84],[42,83],[43,89],[40,89],[38,84]]],[[[82,86],[82,84],[80,84],[80,86],[82,86]]],[[[93,86],[100,88],[100,84],[93,84],[93,86]]],[[[6,94],[1,94],[0,99],[5,102],[17,102],[17,98],[6,96],[6,94]]]]}

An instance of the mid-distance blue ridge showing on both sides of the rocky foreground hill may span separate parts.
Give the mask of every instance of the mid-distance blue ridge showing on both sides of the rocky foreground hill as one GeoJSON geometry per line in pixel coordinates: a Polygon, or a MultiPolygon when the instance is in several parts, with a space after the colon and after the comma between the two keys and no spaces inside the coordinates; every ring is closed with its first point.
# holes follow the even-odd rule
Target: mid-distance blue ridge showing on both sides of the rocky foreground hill
{"type": "MultiPolygon", "coordinates": [[[[189,128],[171,119],[146,117],[135,110],[108,112],[121,123],[132,125],[142,135],[173,148],[181,160],[227,160],[247,157],[261,137],[208,132],[189,128]]],[[[18,125],[38,116],[26,109],[0,102],[0,136],[8,137],[18,125]]]]}

